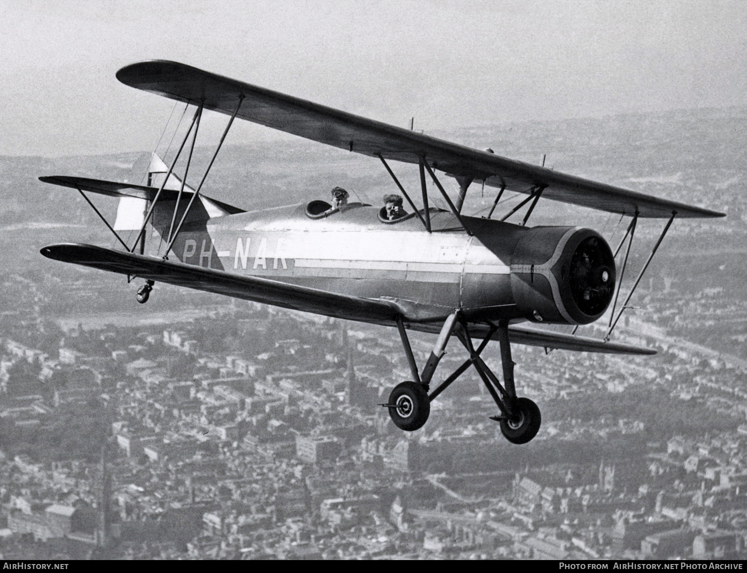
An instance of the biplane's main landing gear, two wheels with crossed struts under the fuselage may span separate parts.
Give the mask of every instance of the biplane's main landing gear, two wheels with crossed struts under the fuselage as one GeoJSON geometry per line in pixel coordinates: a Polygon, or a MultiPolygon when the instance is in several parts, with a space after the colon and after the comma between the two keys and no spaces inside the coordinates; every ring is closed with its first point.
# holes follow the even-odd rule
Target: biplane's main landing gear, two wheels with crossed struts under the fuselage
{"type": "Polygon", "coordinates": [[[526,444],[539,432],[542,415],[539,408],[529,398],[517,397],[514,385],[513,367],[511,359],[511,345],[509,343],[508,320],[500,320],[498,325],[489,323],[486,337],[475,350],[469,334],[467,323],[462,320],[459,312],[454,312],[444,321],[441,333],[438,335],[436,346],[423,368],[423,374],[418,374],[418,365],[412,354],[407,331],[402,318],[397,317],[397,329],[402,338],[402,344],[409,362],[414,382],[402,382],[389,394],[389,401],[382,406],[389,409],[391,420],[401,430],[412,432],[424,426],[430,415],[430,402],[435,400],[452,382],[454,382],[470,366],[474,366],[477,374],[483,380],[487,390],[495,400],[500,415],[491,416],[492,420],[500,422],[500,431],[513,444],[526,444]],[[500,362],[503,366],[503,384],[480,358],[492,336],[498,332],[500,344],[500,362]],[[430,380],[436,371],[436,366],[445,354],[445,348],[451,335],[456,335],[468,351],[470,358],[454,371],[441,385],[428,394],[430,380]]]}

